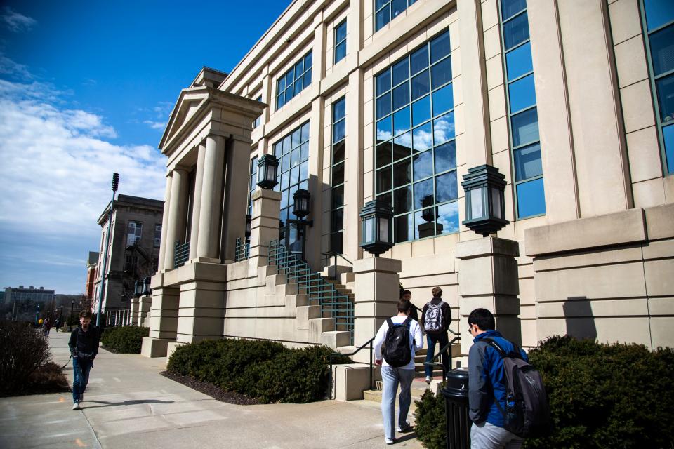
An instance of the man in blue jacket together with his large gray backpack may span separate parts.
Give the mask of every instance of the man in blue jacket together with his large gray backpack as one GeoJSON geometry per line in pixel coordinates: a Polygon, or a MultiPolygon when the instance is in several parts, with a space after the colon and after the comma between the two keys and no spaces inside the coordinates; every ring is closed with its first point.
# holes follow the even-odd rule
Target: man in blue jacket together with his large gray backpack
{"type": "Polygon", "coordinates": [[[518,449],[525,437],[546,436],[550,408],[541,374],[527,353],[496,330],[491,311],[468,316],[468,416],[471,449],[518,449]]]}

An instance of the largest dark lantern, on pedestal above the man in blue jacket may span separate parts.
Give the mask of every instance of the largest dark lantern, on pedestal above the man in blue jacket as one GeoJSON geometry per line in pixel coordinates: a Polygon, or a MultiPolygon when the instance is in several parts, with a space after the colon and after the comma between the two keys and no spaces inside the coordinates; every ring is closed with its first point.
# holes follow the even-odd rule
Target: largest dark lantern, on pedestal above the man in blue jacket
{"type": "Polygon", "coordinates": [[[505,175],[487,164],[468,169],[463,175],[465,217],[463,225],[477,234],[489,236],[508,225],[505,220],[505,175]]]}

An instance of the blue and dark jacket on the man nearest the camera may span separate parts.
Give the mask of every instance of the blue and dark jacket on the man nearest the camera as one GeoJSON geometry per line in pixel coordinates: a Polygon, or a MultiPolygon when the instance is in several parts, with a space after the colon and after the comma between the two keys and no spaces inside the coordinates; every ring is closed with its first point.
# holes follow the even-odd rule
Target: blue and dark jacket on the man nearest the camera
{"type": "MultiPolygon", "coordinates": [[[[505,410],[505,376],[503,359],[483,338],[491,338],[505,352],[515,349],[513,343],[505,340],[498,330],[487,330],[477,335],[473,346],[468,351],[468,407],[470,420],[478,424],[487,421],[503,427],[503,414],[496,406],[496,401],[505,410]]],[[[520,349],[525,361],[529,361],[527,353],[520,349]]]]}

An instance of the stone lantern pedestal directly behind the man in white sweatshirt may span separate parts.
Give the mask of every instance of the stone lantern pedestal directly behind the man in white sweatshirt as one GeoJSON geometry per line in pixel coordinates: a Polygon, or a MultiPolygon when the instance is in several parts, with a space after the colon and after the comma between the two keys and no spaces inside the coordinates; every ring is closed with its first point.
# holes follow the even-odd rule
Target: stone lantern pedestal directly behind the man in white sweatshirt
{"type": "Polygon", "coordinates": [[[402,262],[398,259],[368,257],[354,261],[353,342],[356,346],[374,337],[381,323],[397,314],[401,270],[402,262]]]}

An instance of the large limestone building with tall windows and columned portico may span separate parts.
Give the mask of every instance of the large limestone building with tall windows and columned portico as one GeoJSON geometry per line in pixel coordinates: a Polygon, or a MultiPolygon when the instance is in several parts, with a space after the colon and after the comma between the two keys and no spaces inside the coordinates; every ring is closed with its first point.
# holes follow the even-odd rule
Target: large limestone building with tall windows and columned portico
{"type": "Polygon", "coordinates": [[[673,33],[667,0],[292,1],[173,109],[143,354],[222,336],[359,345],[398,279],[419,307],[442,287],[459,354],[478,306],[524,347],[565,333],[671,346],[673,33]],[[256,188],[265,154],[273,192],[256,188]],[[507,182],[491,237],[462,224],[461,180],[482,164],[507,182]],[[373,199],[395,214],[376,260],[359,246],[373,199]],[[342,305],[279,269],[303,247],[342,305]]]}

